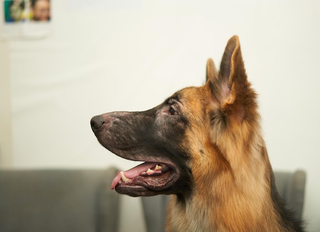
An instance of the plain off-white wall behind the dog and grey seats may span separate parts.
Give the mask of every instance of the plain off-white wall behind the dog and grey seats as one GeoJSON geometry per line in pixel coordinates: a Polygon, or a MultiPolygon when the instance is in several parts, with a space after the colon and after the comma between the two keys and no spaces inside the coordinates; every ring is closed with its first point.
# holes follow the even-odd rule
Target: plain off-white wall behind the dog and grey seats
{"type": "MultiPolygon", "coordinates": [[[[218,64],[238,34],[273,168],[307,171],[304,217],[320,231],[319,1],[72,2],[52,1],[49,38],[10,42],[13,167],[131,168],[98,144],[90,118],[201,85],[207,58],[218,64]]],[[[130,214],[139,198],[124,202],[123,231],[143,231],[130,214]]]]}

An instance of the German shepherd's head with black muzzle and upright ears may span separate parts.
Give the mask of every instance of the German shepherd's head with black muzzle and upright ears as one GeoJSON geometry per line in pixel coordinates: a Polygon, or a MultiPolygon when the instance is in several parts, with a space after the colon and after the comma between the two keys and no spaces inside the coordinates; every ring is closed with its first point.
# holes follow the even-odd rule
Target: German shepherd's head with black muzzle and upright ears
{"type": "Polygon", "coordinates": [[[227,42],[219,72],[212,59],[207,61],[203,86],[181,89],[147,111],[97,115],[91,126],[102,146],[145,162],[119,172],[111,188],[130,196],[187,198],[195,189],[221,188],[214,178],[224,175],[233,176],[232,184],[237,184],[247,175],[239,171],[243,167],[256,174],[261,151],[266,154],[259,120],[256,94],[234,36],[227,42]]]}

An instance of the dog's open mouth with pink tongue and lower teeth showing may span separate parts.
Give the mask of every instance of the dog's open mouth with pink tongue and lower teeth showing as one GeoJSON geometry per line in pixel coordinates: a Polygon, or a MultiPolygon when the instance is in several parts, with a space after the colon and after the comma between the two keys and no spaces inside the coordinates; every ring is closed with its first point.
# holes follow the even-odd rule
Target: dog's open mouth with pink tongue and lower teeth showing
{"type": "MultiPolygon", "coordinates": [[[[162,191],[176,180],[174,169],[167,164],[145,162],[128,171],[118,171],[111,189],[119,193],[162,191]]],[[[132,193],[133,194],[133,193],[132,193]]],[[[135,194],[134,194],[135,195],[135,194]]],[[[139,194],[140,195],[140,194],[139,194]]]]}

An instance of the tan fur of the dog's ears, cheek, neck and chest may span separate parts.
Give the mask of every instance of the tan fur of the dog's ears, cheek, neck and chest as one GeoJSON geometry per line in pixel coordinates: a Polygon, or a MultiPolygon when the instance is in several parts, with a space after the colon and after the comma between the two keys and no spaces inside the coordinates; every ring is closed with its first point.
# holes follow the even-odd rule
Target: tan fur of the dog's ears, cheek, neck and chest
{"type": "Polygon", "coordinates": [[[195,188],[186,202],[172,196],[166,231],[286,231],[272,206],[271,166],[237,36],[228,41],[219,74],[208,60],[207,79],[179,91],[192,125],[185,145],[195,188]],[[213,124],[213,113],[223,120],[213,124]]]}

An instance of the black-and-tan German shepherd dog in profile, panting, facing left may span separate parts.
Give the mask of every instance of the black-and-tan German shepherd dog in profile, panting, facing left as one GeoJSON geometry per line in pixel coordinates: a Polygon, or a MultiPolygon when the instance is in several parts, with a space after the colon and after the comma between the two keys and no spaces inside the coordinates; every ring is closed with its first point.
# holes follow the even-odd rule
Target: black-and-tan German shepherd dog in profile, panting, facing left
{"type": "Polygon", "coordinates": [[[228,40],[219,72],[207,61],[206,76],[203,86],[147,111],[92,118],[102,146],[145,162],[118,172],[111,189],[172,194],[166,231],[303,231],[276,190],[238,36],[228,40]]]}

